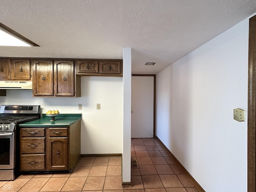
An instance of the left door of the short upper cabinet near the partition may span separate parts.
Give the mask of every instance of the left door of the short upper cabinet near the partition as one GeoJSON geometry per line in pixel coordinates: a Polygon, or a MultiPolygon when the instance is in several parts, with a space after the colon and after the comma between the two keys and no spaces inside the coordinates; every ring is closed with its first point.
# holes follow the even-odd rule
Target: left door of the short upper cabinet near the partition
{"type": "Polygon", "coordinates": [[[77,71],[79,73],[98,73],[98,61],[96,60],[78,60],[77,71]]]}

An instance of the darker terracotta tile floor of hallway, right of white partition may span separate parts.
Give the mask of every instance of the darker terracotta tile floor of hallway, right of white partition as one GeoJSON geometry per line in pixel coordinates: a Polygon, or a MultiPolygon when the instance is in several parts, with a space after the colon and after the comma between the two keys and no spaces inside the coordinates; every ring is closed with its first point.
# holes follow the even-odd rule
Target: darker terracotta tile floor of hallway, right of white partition
{"type": "MultiPolygon", "coordinates": [[[[132,188],[139,192],[198,192],[156,138],[132,138],[132,188]]],[[[124,188],[125,190],[128,188],[124,188]]]]}

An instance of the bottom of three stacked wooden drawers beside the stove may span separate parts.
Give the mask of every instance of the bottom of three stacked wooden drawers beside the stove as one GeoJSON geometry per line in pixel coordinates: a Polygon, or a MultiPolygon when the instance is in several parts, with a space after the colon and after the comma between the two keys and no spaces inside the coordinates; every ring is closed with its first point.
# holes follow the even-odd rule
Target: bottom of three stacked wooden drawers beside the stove
{"type": "Polygon", "coordinates": [[[45,154],[22,154],[20,168],[22,171],[44,170],[45,154]]]}

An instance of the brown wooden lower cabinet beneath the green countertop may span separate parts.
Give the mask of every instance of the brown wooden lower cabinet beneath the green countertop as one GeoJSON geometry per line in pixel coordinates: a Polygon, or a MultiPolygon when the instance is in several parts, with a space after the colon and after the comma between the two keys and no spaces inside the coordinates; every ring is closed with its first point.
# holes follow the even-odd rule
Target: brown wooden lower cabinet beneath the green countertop
{"type": "Polygon", "coordinates": [[[80,159],[80,121],[68,127],[21,128],[20,171],[70,171],[80,159]]]}

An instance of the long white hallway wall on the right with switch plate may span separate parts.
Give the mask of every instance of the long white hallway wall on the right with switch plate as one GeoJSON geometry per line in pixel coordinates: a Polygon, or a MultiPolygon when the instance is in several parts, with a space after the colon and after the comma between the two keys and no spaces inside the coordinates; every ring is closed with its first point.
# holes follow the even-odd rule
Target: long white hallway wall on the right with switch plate
{"type": "Polygon", "coordinates": [[[247,191],[248,21],[157,74],[156,136],[206,192],[247,191]]]}

